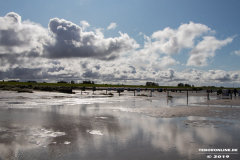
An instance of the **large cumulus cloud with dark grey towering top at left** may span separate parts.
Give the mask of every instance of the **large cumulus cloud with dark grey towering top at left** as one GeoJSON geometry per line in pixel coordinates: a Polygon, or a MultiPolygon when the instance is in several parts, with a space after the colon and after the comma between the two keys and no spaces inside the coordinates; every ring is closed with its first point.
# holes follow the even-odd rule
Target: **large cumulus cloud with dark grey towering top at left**
{"type": "Polygon", "coordinates": [[[0,17],[0,51],[3,63],[17,61],[18,57],[73,58],[89,57],[112,60],[139,47],[127,33],[119,37],[104,38],[101,29],[86,32],[89,26],[81,21],[83,28],[64,20],[50,19],[48,29],[30,22],[21,22],[17,13],[0,17]],[[10,54],[17,54],[10,57],[10,54]]]}

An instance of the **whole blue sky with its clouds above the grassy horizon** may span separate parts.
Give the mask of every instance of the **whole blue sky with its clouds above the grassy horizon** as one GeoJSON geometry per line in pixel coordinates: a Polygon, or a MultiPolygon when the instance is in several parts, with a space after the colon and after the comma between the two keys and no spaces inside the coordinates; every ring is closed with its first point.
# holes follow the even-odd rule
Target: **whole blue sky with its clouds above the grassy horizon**
{"type": "Polygon", "coordinates": [[[238,0],[0,0],[0,79],[240,87],[238,0]]]}

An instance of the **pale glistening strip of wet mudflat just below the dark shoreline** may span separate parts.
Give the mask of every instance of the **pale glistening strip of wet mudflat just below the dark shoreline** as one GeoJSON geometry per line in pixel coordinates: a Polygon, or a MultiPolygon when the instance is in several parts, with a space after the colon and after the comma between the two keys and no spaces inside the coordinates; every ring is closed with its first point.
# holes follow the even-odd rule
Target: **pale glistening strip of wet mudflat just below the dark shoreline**
{"type": "MultiPolygon", "coordinates": [[[[123,92],[119,96],[116,92],[113,97],[103,95],[105,91],[86,91],[81,94],[81,91],[75,91],[76,94],[64,94],[54,92],[35,92],[32,93],[16,93],[5,91],[1,92],[0,107],[32,107],[38,108],[46,105],[76,105],[76,104],[94,104],[94,103],[116,103],[123,102],[126,107],[178,107],[181,105],[196,105],[195,103],[205,102],[206,96],[189,96],[182,92],[181,96],[173,96],[167,98],[167,93],[153,92],[153,97],[137,96],[140,94],[150,96],[150,92],[123,92]],[[19,105],[18,105],[19,104],[19,105]],[[23,105],[24,104],[24,105],[23,105]]],[[[169,93],[171,95],[171,93],[169,93]]],[[[210,99],[217,99],[216,95],[210,96],[210,99]]]]}

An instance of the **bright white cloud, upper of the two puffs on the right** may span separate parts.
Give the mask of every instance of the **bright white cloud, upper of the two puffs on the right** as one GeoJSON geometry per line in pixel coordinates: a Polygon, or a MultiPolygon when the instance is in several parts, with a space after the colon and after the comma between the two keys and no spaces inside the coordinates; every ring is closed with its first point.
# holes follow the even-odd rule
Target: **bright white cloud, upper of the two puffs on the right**
{"type": "Polygon", "coordinates": [[[182,24],[174,30],[169,27],[156,31],[151,38],[155,41],[145,47],[148,52],[158,52],[164,54],[177,54],[182,48],[193,48],[194,40],[206,33],[213,33],[206,25],[190,22],[182,24]]]}

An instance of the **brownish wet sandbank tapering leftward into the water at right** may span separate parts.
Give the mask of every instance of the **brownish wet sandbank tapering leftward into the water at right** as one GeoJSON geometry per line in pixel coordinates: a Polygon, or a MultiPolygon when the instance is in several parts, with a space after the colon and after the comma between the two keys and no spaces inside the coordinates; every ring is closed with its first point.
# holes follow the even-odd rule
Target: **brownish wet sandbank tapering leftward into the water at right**
{"type": "MultiPolygon", "coordinates": [[[[170,93],[173,98],[182,97],[182,93],[170,93]]],[[[213,99],[207,100],[206,93],[188,93],[191,96],[203,96],[205,97],[204,102],[189,103],[189,105],[179,105],[174,108],[128,108],[123,109],[128,112],[145,113],[149,116],[156,118],[172,118],[172,117],[188,117],[188,116],[200,116],[200,117],[211,117],[211,118],[230,118],[240,120],[240,99],[233,97],[233,99],[213,99]]],[[[210,93],[210,96],[216,95],[216,93],[210,93]]],[[[218,96],[221,98],[221,96],[218,96]]],[[[145,98],[146,100],[154,100],[156,97],[145,98]]]]}

